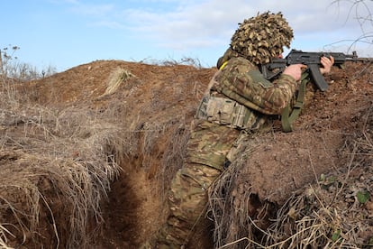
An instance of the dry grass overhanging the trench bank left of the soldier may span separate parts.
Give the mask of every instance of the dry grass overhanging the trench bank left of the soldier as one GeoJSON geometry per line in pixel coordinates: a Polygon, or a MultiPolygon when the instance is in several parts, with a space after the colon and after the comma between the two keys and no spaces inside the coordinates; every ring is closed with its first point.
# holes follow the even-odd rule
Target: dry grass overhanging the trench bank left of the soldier
{"type": "Polygon", "coordinates": [[[89,224],[103,222],[100,204],[120,171],[122,128],[84,106],[21,105],[4,83],[0,244],[85,247],[89,224]]]}

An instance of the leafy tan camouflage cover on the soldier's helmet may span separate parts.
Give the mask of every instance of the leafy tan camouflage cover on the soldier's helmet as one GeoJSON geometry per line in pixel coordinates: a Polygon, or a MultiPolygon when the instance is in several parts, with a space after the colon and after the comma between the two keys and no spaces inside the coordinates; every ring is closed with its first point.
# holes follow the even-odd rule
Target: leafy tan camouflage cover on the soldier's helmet
{"type": "Polygon", "coordinates": [[[281,13],[258,14],[240,23],[231,48],[255,64],[268,63],[290,46],[293,30],[281,13]]]}

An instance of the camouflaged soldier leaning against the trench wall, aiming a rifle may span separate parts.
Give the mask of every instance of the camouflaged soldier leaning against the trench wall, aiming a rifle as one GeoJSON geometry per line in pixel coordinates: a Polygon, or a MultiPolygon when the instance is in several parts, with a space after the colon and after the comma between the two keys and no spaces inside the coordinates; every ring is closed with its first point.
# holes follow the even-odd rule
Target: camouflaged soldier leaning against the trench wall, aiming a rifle
{"type": "MultiPolygon", "coordinates": [[[[287,67],[273,82],[263,78],[259,65],[281,56],[292,39],[293,30],[280,13],[258,14],[234,32],[192,123],[185,162],[170,187],[168,220],[148,248],[187,244],[204,217],[206,189],[234,160],[241,137],[270,127],[291,103],[305,65],[287,67]]],[[[333,59],[321,62],[321,72],[329,72],[333,59]]]]}

